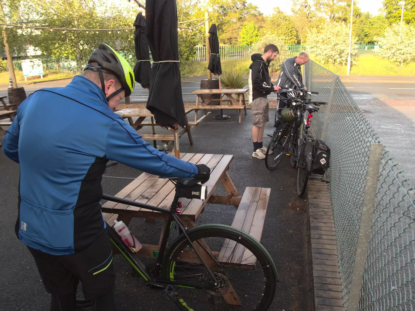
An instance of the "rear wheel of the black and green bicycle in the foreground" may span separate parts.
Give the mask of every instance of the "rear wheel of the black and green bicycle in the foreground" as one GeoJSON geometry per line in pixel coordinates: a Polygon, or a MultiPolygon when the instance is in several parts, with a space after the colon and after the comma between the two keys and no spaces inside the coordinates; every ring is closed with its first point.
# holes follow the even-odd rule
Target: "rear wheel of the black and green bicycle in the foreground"
{"type": "MultiPolygon", "coordinates": [[[[215,287],[209,271],[200,262],[186,237],[171,247],[166,255],[164,277],[206,289],[179,287],[177,292],[185,308],[208,310],[267,310],[276,288],[273,262],[253,238],[235,229],[206,228],[188,234],[193,245],[218,280],[215,287]],[[234,231],[232,231],[234,230],[234,231]],[[242,233],[242,234],[241,234],[242,233]],[[214,252],[215,263],[200,245],[214,252]],[[236,298],[237,297],[237,298],[236,298]]],[[[186,310],[185,308],[181,308],[186,310]]]]}

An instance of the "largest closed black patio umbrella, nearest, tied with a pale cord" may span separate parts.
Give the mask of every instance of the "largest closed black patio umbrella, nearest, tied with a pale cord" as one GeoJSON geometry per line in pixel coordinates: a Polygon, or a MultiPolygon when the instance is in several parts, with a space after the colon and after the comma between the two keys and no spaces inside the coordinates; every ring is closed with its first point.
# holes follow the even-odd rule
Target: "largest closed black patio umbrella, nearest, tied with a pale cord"
{"type": "Polygon", "coordinates": [[[147,109],[165,126],[184,127],[176,0],[146,1],[146,37],[153,57],[147,109]]]}

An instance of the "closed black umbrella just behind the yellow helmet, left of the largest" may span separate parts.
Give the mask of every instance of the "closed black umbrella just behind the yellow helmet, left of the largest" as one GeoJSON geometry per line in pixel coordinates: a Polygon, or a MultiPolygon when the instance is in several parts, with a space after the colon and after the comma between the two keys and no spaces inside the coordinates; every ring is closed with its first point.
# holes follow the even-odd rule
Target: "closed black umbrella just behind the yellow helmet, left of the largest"
{"type": "Polygon", "coordinates": [[[142,87],[150,87],[150,51],[149,44],[146,38],[146,19],[142,13],[138,13],[134,22],[134,45],[135,45],[135,57],[137,63],[134,67],[135,80],[141,84],[142,87]]]}

